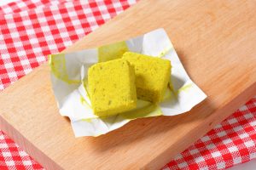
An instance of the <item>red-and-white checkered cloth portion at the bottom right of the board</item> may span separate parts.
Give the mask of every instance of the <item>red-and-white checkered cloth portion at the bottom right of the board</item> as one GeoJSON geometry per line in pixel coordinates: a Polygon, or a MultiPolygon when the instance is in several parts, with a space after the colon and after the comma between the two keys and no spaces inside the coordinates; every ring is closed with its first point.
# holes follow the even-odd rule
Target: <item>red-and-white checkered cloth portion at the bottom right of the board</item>
{"type": "Polygon", "coordinates": [[[256,96],[163,169],[226,169],[256,158],[255,144],[256,96]]]}

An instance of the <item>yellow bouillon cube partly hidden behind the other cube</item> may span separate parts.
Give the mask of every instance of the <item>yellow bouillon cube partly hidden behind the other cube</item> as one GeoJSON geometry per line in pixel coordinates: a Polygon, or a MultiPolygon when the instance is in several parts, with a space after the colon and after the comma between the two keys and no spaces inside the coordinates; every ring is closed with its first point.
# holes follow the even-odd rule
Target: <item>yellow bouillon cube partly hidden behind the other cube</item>
{"type": "Polygon", "coordinates": [[[160,102],[170,80],[171,61],[132,52],[123,58],[135,68],[137,98],[160,102]]]}

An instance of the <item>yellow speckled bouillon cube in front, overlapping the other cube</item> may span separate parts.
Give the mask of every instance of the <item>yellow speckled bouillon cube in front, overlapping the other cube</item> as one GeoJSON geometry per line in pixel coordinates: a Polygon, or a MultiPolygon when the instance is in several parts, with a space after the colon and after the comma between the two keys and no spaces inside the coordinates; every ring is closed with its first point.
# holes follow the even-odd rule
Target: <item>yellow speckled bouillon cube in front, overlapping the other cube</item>
{"type": "Polygon", "coordinates": [[[88,71],[92,109],[97,116],[113,116],[137,106],[134,67],[125,59],[92,65],[88,71]]]}

